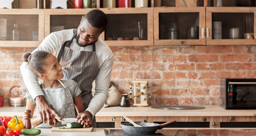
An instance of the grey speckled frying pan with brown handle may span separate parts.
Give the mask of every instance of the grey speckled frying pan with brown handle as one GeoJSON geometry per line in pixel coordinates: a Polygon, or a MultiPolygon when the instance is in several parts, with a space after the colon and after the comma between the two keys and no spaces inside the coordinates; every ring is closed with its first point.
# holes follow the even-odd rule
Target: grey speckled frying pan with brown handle
{"type": "Polygon", "coordinates": [[[142,127],[133,126],[131,123],[123,123],[121,124],[121,128],[128,134],[150,134],[154,133],[158,129],[162,129],[165,126],[175,123],[175,120],[165,122],[163,124],[155,124],[155,123],[143,123],[138,122],[136,124],[141,125],[142,127]]]}

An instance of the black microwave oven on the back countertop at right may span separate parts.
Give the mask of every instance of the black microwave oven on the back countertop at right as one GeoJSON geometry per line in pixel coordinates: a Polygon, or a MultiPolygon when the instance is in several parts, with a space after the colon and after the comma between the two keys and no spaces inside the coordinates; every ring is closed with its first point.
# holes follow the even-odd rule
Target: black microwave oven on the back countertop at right
{"type": "Polygon", "coordinates": [[[225,109],[256,109],[256,79],[222,79],[221,100],[225,109]]]}

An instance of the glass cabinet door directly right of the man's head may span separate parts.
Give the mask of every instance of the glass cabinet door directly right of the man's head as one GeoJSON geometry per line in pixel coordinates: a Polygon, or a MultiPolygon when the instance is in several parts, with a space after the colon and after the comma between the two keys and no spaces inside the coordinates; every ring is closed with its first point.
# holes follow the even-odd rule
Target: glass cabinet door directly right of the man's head
{"type": "Polygon", "coordinates": [[[108,46],[153,45],[153,8],[100,8],[108,17],[100,35],[108,46]]]}

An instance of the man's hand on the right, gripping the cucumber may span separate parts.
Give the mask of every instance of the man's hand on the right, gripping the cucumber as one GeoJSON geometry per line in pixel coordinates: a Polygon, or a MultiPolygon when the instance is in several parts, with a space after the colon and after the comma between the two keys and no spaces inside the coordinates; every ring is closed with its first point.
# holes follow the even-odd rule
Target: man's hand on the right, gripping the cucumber
{"type": "Polygon", "coordinates": [[[81,123],[81,125],[83,125],[83,128],[88,128],[92,126],[93,124],[93,122],[91,121],[92,118],[93,118],[93,115],[88,111],[79,113],[77,115],[78,122],[81,123]]]}

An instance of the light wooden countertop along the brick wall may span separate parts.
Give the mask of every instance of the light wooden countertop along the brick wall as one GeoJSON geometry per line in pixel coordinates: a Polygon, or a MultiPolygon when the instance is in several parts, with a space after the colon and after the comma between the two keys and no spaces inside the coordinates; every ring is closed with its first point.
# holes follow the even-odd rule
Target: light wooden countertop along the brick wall
{"type": "MultiPolygon", "coordinates": [[[[96,116],[255,116],[255,109],[226,110],[219,105],[200,105],[205,109],[163,110],[151,107],[107,107],[96,116]]],[[[25,107],[0,107],[0,116],[23,116],[25,107]]],[[[36,116],[36,115],[35,115],[36,116]]]]}

